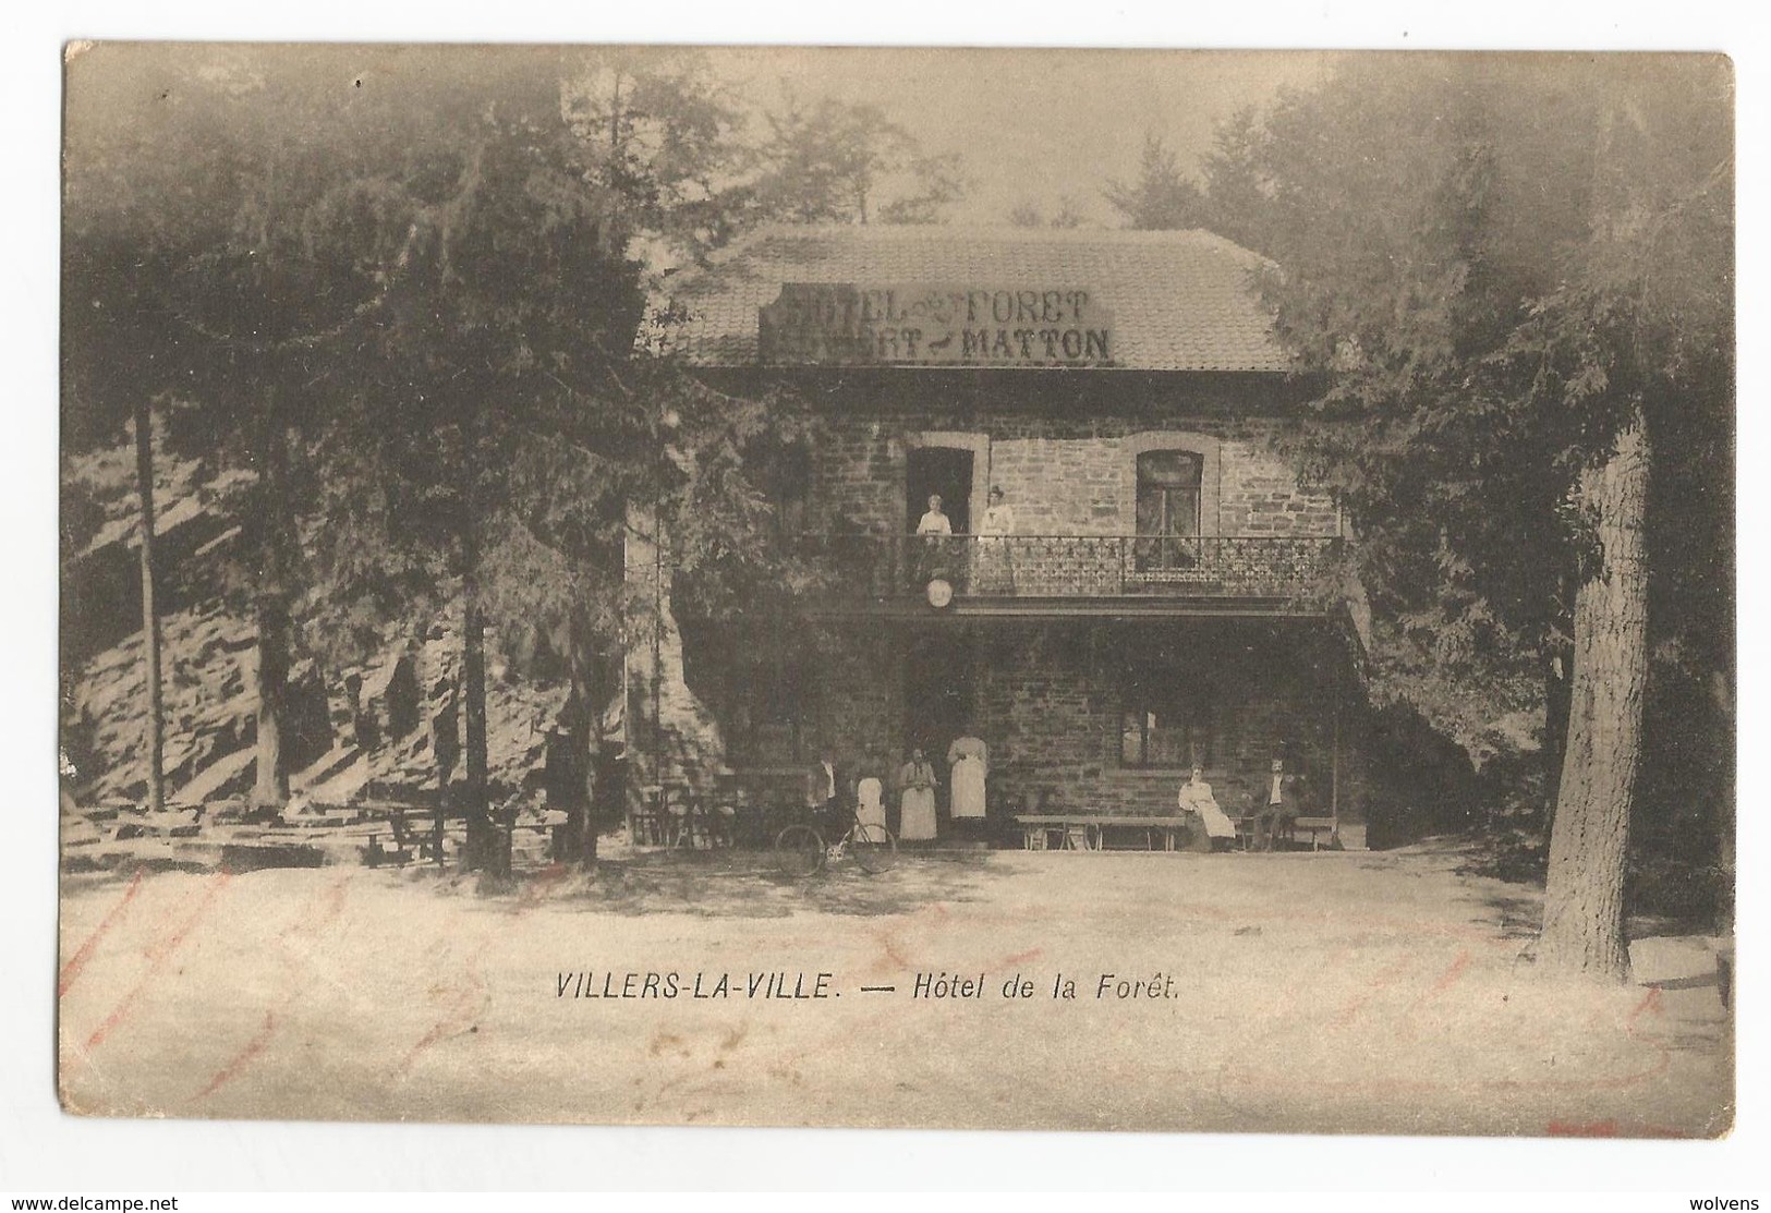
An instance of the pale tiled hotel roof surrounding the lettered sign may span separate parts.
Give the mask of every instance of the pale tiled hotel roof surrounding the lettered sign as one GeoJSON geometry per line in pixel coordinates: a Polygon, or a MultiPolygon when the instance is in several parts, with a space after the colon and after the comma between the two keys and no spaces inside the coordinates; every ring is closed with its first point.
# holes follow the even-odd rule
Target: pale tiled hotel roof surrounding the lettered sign
{"type": "Polygon", "coordinates": [[[669,289],[671,344],[701,367],[758,363],[758,308],[785,283],[1086,289],[1130,370],[1284,370],[1254,292],[1263,259],[1211,232],[967,227],[765,227],[669,289]]]}

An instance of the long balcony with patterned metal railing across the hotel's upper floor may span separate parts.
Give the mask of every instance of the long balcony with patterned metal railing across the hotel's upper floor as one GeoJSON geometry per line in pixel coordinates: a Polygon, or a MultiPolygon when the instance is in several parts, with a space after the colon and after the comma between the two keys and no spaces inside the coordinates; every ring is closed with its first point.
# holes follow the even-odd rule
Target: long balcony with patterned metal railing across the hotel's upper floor
{"type": "Polygon", "coordinates": [[[955,600],[1263,600],[1323,609],[1341,540],[1296,537],[1149,535],[808,535],[806,554],[831,577],[832,597],[924,599],[946,583],[955,600]]]}

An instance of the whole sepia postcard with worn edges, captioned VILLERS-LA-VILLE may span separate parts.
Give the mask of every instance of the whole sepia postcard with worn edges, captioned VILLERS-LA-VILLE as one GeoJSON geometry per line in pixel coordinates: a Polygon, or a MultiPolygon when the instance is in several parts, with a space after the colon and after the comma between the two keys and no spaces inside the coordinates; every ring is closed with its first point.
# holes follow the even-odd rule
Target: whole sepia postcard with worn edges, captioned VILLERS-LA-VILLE
{"type": "Polygon", "coordinates": [[[1732,1132],[1725,55],[64,87],[67,1114],[1732,1132]]]}

